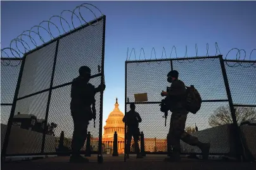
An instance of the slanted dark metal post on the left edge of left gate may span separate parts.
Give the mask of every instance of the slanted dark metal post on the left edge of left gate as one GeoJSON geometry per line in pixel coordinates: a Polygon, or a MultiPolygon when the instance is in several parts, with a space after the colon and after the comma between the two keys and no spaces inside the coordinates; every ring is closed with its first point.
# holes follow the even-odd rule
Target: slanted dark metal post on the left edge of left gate
{"type": "Polygon", "coordinates": [[[11,133],[11,125],[13,124],[13,116],[15,114],[16,102],[17,102],[17,99],[18,99],[18,92],[20,90],[20,83],[22,82],[22,75],[23,75],[23,69],[24,69],[24,66],[25,66],[26,57],[27,56],[23,56],[22,65],[20,66],[20,73],[18,75],[18,80],[17,80],[17,84],[16,84],[16,89],[15,89],[15,95],[13,97],[13,104],[11,106],[11,112],[10,112],[10,116],[9,116],[8,123],[7,123],[6,133],[5,133],[5,136],[4,136],[3,149],[2,149],[2,152],[1,152],[1,160],[2,161],[4,161],[6,151],[7,151],[7,147],[8,147],[9,137],[10,137],[10,133],[11,133]]]}

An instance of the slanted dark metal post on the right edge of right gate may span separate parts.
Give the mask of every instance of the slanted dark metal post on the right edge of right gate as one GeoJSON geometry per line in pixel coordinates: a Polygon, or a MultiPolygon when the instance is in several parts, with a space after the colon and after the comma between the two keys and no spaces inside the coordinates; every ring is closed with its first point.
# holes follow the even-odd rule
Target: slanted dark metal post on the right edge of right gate
{"type": "Polygon", "coordinates": [[[224,64],[224,60],[222,58],[222,55],[219,55],[219,60],[220,60],[220,63],[221,63],[221,71],[222,71],[222,75],[223,75],[223,79],[224,79],[224,84],[225,84],[225,87],[226,87],[227,99],[228,99],[228,102],[229,102],[229,107],[230,107],[230,111],[231,111],[234,130],[236,132],[236,140],[235,141],[236,141],[236,145],[237,145],[237,148],[238,148],[237,158],[238,158],[238,160],[243,161],[243,142],[241,140],[241,131],[240,131],[240,128],[238,127],[238,123],[236,121],[235,109],[234,109],[234,105],[233,105],[231,91],[230,91],[230,88],[229,88],[229,82],[228,82],[228,79],[227,79],[226,68],[225,68],[225,64],[224,64]]]}

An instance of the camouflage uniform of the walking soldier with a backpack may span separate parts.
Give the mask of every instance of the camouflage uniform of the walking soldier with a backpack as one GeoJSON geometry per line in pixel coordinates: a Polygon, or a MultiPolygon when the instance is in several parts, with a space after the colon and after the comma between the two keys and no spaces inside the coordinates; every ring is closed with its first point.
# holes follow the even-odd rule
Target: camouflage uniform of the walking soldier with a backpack
{"type": "Polygon", "coordinates": [[[169,128],[169,145],[172,146],[173,154],[179,157],[181,152],[180,140],[189,145],[198,146],[202,149],[205,143],[199,142],[198,138],[189,135],[184,131],[188,111],[184,108],[186,102],[186,87],[181,80],[174,80],[169,89],[170,111],[172,116],[169,128]]]}

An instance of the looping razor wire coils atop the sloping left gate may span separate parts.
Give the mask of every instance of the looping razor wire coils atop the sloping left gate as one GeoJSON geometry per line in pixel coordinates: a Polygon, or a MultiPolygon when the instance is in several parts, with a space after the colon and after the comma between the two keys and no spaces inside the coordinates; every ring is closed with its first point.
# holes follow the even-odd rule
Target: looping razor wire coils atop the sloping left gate
{"type": "Polygon", "coordinates": [[[49,20],[41,21],[41,23],[39,23],[39,25],[35,25],[34,27],[30,28],[30,30],[23,31],[15,39],[11,40],[9,47],[5,47],[5,48],[1,49],[1,58],[4,58],[4,59],[1,59],[1,65],[3,65],[3,66],[18,66],[22,60],[20,60],[20,62],[14,64],[11,62],[12,58],[23,58],[23,55],[26,54],[27,52],[32,51],[39,46],[43,46],[47,42],[49,42],[53,39],[56,39],[57,37],[60,37],[61,35],[65,34],[65,33],[72,32],[72,30],[82,27],[82,25],[84,25],[84,24],[89,24],[91,26],[98,25],[97,18],[99,18],[101,16],[97,16],[96,12],[94,12],[92,10],[92,8],[94,8],[94,10],[97,10],[100,13],[100,15],[103,16],[103,13],[93,4],[83,3],[83,4],[80,4],[80,6],[77,6],[73,11],[63,10],[60,15],[53,15],[53,16],[51,16],[51,18],[49,18],[49,20]],[[87,10],[89,10],[95,17],[96,23],[92,24],[91,21],[90,22],[86,21],[85,17],[82,16],[82,14],[81,14],[81,8],[86,8],[87,10]],[[71,24],[70,24],[70,22],[68,22],[68,20],[63,18],[63,13],[70,13],[71,24]],[[51,21],[53,18],[60,18],[60,20],[59,20],[60,26],[57,26],[56,23],[53,23],[53,21],[51,21]],[[80,22],[80,25],[78,27],[74,26],[74,18],[77,18],[80,22]],[[68,30],[65,30],[65,28],[63,27],[63,21],[65,21],[65,23],[67,23],[68,30]],[[42,26],[42,23],[48,23],[48,27],[42,26]],[[58,30],[57,37],[53,36],[53,31],[51,30],[50,25],[53,25],[53,27],[55,27],[58,30]],[[39,31],[39,28],[45,30],[51,39],[46,42],[46,40],[43,39],[44,36],[39,31]],[[63,30],[62,34],[61,34],[61,30],[63,30]],[[40,44],[36,43],[35,37],[33,37],[31,33],[34,33],[35,35],[37,35],[37,37],[38,37],[37,40],[39,40],[41,42],[40,44]],[[23,37],[29,37],[30,42],[22,39],[23,37]],[[21,47],[18,47],[17,42],[19,42],[21,44],[21,47]],[[15,47],[12,47],[13,44],[15,47]],[[34,49],[32,49],[32,47],[31,47],[33,45],[35,46],[34,49]],[[8,54],[7,51],[9,51],[10,54],[8,54]]]}

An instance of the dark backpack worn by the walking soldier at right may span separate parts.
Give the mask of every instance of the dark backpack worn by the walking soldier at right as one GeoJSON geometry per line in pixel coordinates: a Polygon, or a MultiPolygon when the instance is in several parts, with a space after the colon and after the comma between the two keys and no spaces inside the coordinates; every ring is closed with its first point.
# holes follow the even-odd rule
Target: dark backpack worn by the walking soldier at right
{"type": "Polygon", "coordinates": [[[186,86],[186,109],[193,114],[196,114],[200,110],[202,104],[202,98],[194,87],[191,85],[190,87],[186,86]]]}

